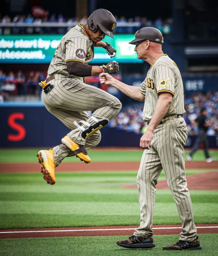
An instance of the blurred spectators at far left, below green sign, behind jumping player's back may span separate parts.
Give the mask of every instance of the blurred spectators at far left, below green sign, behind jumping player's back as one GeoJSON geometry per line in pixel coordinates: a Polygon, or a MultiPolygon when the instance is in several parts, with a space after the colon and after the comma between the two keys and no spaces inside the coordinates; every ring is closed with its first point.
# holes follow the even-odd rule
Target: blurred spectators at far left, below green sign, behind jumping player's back
{"type": "Polygon", "coordinates": [[[38,83],[44,80],[45,76],[39,71],[31,71],[26,77],[21,70],[17,73],[10,71],[8,74],[0,70],[0,103],[8,100],[9,95],[40,95],[41,87],[38,83]]]}

